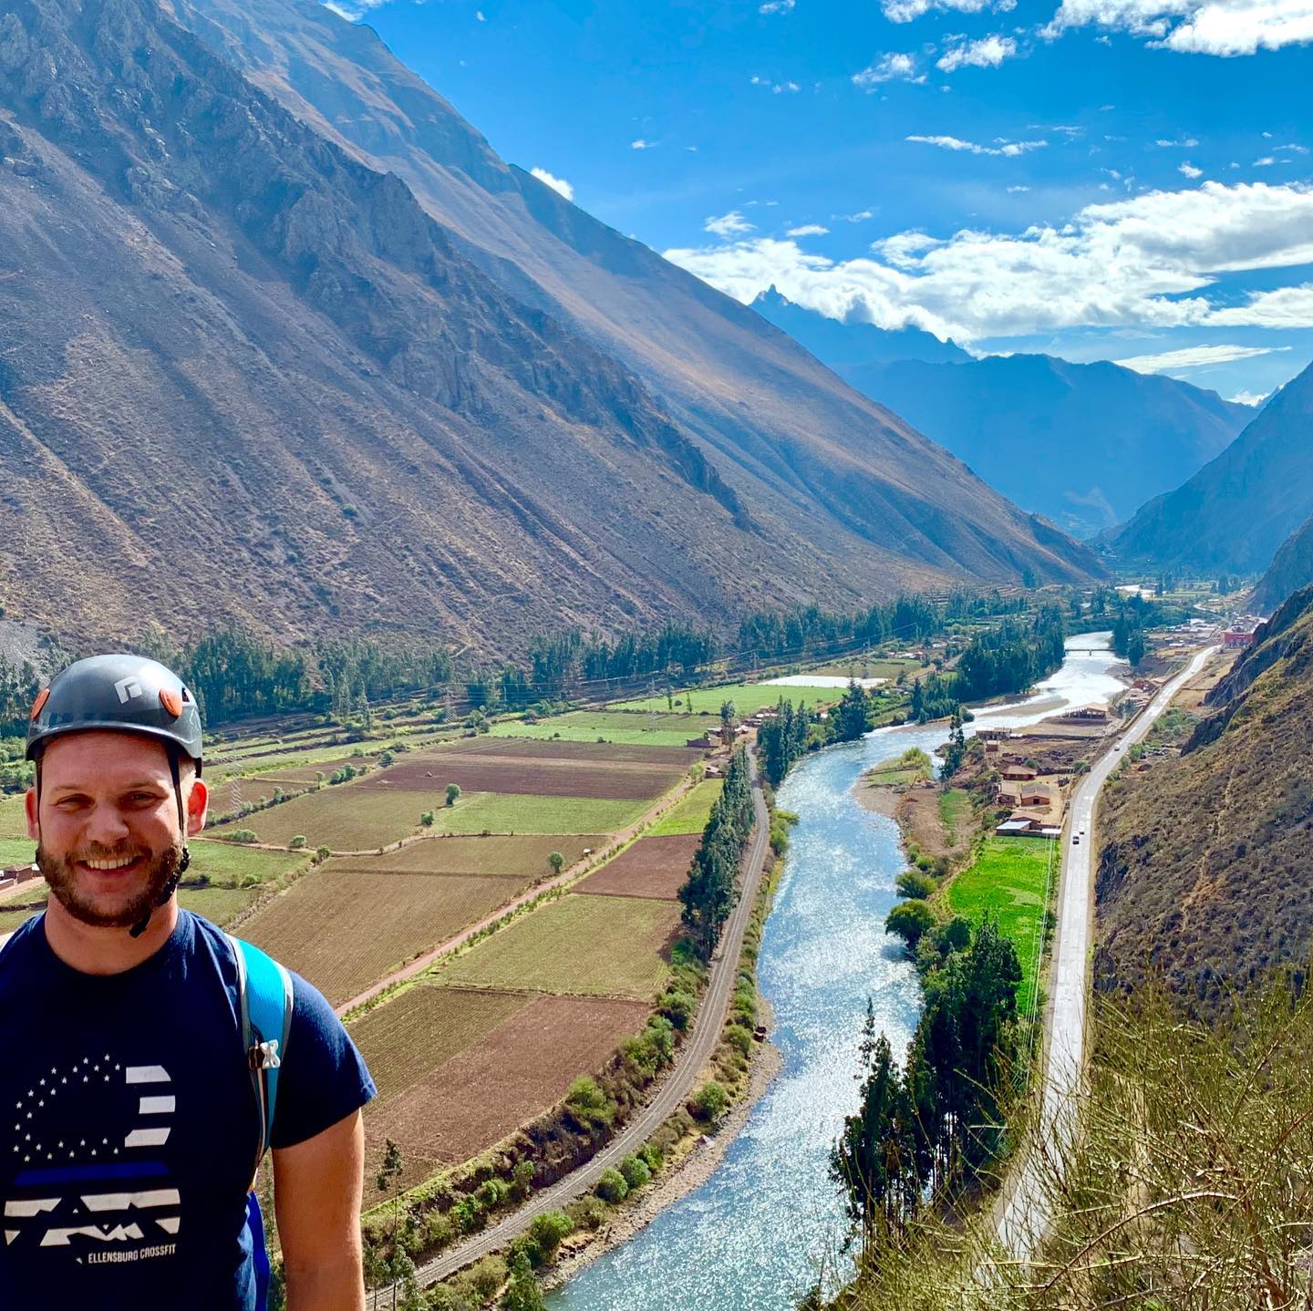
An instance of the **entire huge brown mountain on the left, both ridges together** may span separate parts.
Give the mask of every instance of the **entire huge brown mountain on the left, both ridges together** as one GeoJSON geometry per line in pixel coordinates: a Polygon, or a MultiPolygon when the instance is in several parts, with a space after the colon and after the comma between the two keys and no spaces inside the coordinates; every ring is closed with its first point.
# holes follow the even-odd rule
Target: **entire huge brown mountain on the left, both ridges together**
{"type": "Polygon", "coordinates": [[[83,636],[508,650],[1100,571],[310,0],[4,7],[0,450],[0,587],[83,636]]]}

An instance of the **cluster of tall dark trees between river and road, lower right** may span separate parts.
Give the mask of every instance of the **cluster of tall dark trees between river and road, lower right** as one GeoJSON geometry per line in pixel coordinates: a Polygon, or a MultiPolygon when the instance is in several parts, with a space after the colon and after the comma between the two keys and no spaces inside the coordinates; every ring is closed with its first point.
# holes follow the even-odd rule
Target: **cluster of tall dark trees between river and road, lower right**
{"type": "MultiPolygon", "coordinates": [[[[945,936],[945,944],[962,936],[945,936]]],[[[871,1251],[926,1199],[974,1178],[999,1152],[1003,1101],[1019,1052],[1022,966],[985,919],[969,944],[923,975],[926,1004],[902,1070],[868,1003],[861,1101],[830,1155],[853,1232],[871,1251]]]]}

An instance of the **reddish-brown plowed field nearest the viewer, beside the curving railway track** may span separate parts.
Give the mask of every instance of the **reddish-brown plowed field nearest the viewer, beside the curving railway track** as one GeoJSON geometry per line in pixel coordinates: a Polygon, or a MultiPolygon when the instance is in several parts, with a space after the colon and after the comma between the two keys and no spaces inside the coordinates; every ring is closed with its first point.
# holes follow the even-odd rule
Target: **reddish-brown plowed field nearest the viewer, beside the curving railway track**
{"type": "MultiPolygon", "coordinates": [[[[580,1073],[600,1070],[620,1042],[642,1029],[647,1014],[647,1004],[638,1001],[534,999],[482,1041],[435,1063],[400,1094],[365,1110],[366,1173],[373,1176],[389,1138],[400,1146],[406,1163],[402,1186],[469,1160],[559,1101],[580,1073]]],[[[400,1026],[379,1045],[376,1060],[386,1068],[387,1052],[407,1042],[400,1026]]],[[[402,1077],[414,1072],[407,1067],[402,1077]]]]}

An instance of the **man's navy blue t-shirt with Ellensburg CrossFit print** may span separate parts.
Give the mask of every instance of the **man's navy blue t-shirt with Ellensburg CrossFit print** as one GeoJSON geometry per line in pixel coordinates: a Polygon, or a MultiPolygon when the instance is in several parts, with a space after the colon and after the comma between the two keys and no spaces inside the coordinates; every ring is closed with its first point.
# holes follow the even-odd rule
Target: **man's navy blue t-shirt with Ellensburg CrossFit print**
{"type": "MultiPolygon", "coordinates": [[[[374,1084],[328,1003],[293,975],[273,1146],[357,1110],[374,1084]]],[[[188,911],[150,959],[89,975],[45,916],[0,953],[0,1306],[249,1311],[246,1193],[259,1113],[236,965],[188,911]]]]}

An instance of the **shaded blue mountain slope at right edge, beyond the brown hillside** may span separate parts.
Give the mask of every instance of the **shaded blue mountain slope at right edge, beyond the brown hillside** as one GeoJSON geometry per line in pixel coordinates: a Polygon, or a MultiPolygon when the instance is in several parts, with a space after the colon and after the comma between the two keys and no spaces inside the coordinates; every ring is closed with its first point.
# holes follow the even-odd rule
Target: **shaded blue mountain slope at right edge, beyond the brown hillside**
{"type": "Polygon", "coordinates": [[[1313,514],[1313,365],[1216,459],[1141,507],[1107,545],[1124,560],[1200,573],[1260,573],[1313,514]]]}

